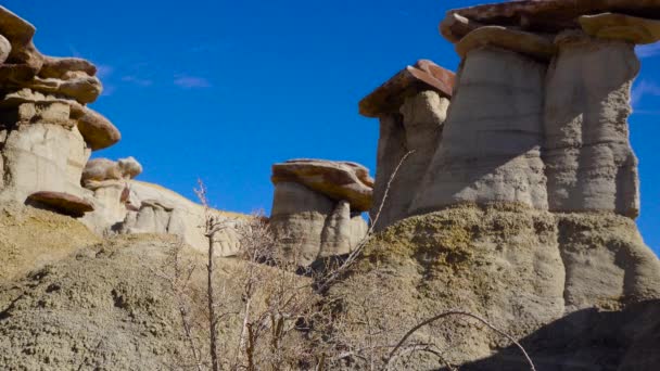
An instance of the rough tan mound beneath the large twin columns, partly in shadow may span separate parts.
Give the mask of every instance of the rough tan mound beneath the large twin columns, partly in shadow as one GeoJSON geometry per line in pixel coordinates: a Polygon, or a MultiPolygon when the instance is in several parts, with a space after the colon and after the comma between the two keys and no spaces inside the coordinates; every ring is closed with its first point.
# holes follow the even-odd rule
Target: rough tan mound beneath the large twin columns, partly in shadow
{"type": "MultiPolygon", "coordinates": [[[[396,343],[420,319],[460,308],[521,338],[538,370],[636,370],[639,363],[652,370],[658,343],[647,331],[659,329],[649,317],[660,310],[659,282],[660,261],[630,218],[457,205],[379,233],[359,269],[330,295],[342,298],[348,321],[375,310],[369,325],[381,335],[354,329],[347,347],[368,338],[396,343]],[[648,358],[626,357],[644,334],[650,343],[638,354],[648,358]]],[[[461,370],[529,369],[505,338],[461,317],[420,329],[415,341],[444,349],[443,358],[461,370]]],[[[420,356],[392,369],[439,366],[420,356]]]]}

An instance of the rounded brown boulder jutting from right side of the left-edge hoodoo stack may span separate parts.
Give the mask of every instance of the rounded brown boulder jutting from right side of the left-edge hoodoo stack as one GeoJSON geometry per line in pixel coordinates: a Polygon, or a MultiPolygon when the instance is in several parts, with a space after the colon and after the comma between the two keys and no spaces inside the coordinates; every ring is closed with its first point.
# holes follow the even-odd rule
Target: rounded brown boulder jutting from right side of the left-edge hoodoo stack
{"type": "Polygon", "coordinates": [[[92,151],[109,148],[122,139],[119,130],[103,115],[87,107],[72,113],[77,114],[74,118],[78,120],[78,130],[92,151]]]}

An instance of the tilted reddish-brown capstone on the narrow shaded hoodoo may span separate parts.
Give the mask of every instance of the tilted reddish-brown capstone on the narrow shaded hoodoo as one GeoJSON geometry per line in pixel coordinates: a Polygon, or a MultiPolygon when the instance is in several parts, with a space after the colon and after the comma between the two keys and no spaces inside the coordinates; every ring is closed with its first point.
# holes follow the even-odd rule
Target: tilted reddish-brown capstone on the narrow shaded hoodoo
{"type": "Polygon", "coordinates": [[[406,98],[422,90],[436,90],[450,98],[455,74],[437,64],[420,60],[414,66],[406,66],[390,80],[359,102],[359,113],[367,117],[397,113],[406,98]]]}

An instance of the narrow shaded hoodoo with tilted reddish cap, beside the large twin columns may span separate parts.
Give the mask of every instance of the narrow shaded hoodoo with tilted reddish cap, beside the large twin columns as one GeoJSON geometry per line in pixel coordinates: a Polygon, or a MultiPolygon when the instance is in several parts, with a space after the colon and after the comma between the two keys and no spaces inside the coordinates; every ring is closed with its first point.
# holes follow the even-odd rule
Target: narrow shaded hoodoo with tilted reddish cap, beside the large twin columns
{"type": "Polygon", "coordinates": [[[422,175],[442,137],[454,73],[420,60],[367,95],[360,113],[380,119],[371,220],[376,230],[409,216],[422,175]],[[401,167],[402,158],[409,153],[401,167]],[[395,169],[398,171],[393,177],[395,169]],[[390,190],[388,189],[390,187],[390,190]],[[385,191],[388,199],[385,200],[385,191]],[[379,213],[380,212],[380,213],[379,213]]]}

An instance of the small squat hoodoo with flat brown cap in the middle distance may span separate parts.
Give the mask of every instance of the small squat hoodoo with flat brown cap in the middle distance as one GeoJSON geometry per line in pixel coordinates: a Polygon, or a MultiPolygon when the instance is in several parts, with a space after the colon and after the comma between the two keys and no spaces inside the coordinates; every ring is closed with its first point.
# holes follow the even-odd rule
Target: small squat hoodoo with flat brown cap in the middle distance
{"type": "Polygon", "coordinates": [[[373,179],[361,165],[292,159],[272,166],[270,225],[279,246],[301,266],[348,254],[367,234],[373,179]]]}

